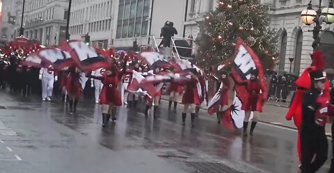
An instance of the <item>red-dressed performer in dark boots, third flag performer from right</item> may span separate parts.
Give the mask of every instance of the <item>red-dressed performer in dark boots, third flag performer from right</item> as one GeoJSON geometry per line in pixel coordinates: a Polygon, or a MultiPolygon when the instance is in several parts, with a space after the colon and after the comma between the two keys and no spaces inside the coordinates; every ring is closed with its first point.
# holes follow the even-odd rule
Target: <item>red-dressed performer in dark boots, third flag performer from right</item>
{"type": "Polygon", "coordinates": [[[198,72],[196,69],[190,70],[191,79],[186,83],[180,83],[184,85],[184,94],[182,97],[182,104],[184,105],[182,112],[182,125],[186,124],[186,113],[189,106],[191,107],[191,127],[195,127],[196,106],[200,105],[200,96],[198,95],[197,83],[198,72]]]}

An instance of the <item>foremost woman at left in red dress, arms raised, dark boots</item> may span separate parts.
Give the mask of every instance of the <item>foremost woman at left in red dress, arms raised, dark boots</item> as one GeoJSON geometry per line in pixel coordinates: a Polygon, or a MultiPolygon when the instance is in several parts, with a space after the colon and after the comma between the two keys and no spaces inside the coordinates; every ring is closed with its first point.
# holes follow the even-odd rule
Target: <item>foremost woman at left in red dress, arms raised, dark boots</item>
{"type": "MultiPolygon", "coordinates": [[[[124,69],[125,71],[125,69],[124,69]]],[[[102,76],[91,76],[90,78],[101,80],[103,87],[100,94],[100,104],[102,105],[102,126],[106,126],[110,117],[112,121],[116,120],[115,106],[122,106],[122,99],[118,91],[118,83],[122,76],[116,67],[106,69],[102,76]]]]}

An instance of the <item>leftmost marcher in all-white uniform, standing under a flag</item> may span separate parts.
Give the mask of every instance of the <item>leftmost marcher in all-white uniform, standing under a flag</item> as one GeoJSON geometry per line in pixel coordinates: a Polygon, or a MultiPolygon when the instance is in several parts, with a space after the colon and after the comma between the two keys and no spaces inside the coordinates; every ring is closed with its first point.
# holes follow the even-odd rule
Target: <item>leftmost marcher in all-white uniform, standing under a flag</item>
{"type": "Polygon", "coordinates": [[[54,90],[54,81],[58,80],[58,76],[54,74],[53,67],[41,68],[38,79],[42,80],[42,101],[51,101],[52,90],[54,90]]]}

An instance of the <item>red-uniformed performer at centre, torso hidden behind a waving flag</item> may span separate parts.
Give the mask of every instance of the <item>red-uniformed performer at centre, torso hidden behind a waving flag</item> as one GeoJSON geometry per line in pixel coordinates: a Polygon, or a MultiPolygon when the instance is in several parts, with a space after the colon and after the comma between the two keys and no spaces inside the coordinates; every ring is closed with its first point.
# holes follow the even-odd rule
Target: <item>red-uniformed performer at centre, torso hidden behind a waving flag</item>
{"type": "MultiPolygon", "coordinates": [[[[160,72],[160,68],[155,67],[154,72],[153,72],[152,75],[158,74],[159,72],[160,72]]],[[[153,117],[154,118],[159,117],[158,109],[159,109],[159,101],[160,101],[160,98],[161,98],[161,95],[162,95],[162,86],[163,85],[164,85],[164,83],[154,83],[156,94],[154,95],[154,98],[150,99],[148,101],[148,103],[146,104],[145,117],[148,117],[148,110],[152,107],[153,103],[154,103],[153,117]]]]}

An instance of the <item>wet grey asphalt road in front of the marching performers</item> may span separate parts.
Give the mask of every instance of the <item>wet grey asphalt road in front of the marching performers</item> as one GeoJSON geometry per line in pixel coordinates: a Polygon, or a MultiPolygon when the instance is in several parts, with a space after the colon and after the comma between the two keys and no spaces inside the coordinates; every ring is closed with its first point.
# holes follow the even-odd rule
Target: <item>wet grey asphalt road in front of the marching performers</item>
{"type": "Polygon", "coordinates": [[[138,105],[119,108],[117,122],[102,129],[100,106],[90,102],[70,115],[60,101],[1,91],[0,173],[299,172],[291,129],[259,124],[253,138],[243,138],[202,110],[191,129],[190,116],[181,125],[182,106],[171,113],[166,101],[159,120],[145,120],[138,105]]]}

